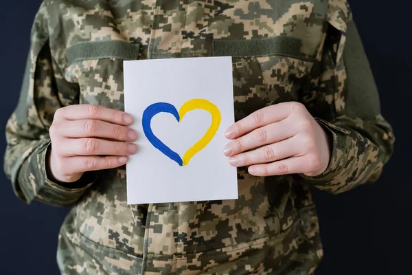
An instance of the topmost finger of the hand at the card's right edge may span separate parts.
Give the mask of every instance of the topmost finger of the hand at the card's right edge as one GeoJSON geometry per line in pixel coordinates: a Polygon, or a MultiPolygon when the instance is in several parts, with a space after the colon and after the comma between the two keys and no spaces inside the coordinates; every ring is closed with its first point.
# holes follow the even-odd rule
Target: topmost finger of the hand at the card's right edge
{"type": "Polygon", "coordinates": [[[290,114],[291,109],[290,102],[264,107],[230,126],[225,132],[225,137],[237,138],[264,125],[284,120],[290,114]]]}

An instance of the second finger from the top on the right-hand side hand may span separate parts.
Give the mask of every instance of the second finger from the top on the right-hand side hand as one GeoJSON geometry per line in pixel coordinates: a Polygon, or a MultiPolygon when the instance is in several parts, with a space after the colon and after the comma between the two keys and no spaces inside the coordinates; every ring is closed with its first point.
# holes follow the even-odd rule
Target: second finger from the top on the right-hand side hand
{"type": "Polygon", "coordinates": [[[227,157],[238,155],[238,153],[242,153],[258,146],[285,140],[293,135],[295,135],[293,127],[290,127],[286,120],[282,120],[260,127],[253,130],[251,133],[238,137],[236,140],[233,140],[225,146],[223,153],[227,157]]]}

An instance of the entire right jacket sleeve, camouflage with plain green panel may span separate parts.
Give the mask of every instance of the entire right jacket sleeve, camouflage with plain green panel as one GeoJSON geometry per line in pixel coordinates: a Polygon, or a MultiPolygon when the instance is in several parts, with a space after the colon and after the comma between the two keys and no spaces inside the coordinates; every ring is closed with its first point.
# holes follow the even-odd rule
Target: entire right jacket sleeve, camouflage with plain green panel
{"type": "Polygon", "coordinates": [[[330,0],[328,30],[302,101],[330,135],[325,172],[301,175],[332,193],[373,183],[393,151],[391,125],[380,113],[378,89],[347,1],[330,0]]]}

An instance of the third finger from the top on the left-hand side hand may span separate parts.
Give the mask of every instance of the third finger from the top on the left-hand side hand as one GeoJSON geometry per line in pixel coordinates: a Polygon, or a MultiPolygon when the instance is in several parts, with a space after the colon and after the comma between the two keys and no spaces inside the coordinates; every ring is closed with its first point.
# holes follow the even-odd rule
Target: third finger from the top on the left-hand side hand
{"type": "Polygon", "coordinates": [[[60,154],[73,155],[133,155],[137,146],[128,142],[110,142],[98,138],[66,139],[60,154]]]}

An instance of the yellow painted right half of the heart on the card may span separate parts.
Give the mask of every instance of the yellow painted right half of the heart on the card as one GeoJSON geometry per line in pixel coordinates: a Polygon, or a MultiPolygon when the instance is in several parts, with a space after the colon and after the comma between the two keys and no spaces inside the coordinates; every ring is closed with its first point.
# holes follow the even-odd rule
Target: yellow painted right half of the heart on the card
{"type": "Polygon", "coordinates": [[[185,116],[187,112],[196,109],[202,109],[209,112],[211,114],[211,123],[209,129],[207,129],[207,132],[205,133],[205,135],[203,135],[201,140],[196,142],[192,147],[190,147],[189,150],[186,151],[185,155],[183,155],[182,166],[188,164],[190,162],[190,159],[192,159],[194,155],[196,155],[199,151],[205,148],[207,144],[209,144],[214,135],[216,135],[216,132],[218,131],[220,126],[220,121],[222,120],[220,111],[215,104],[205,99],[192,99],[185,102],[185,104],[182,105],[181,109],[179,109],[179,122],[182,121],[183,116],[185,116]]]}

